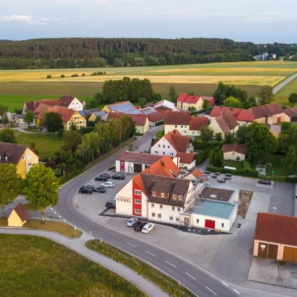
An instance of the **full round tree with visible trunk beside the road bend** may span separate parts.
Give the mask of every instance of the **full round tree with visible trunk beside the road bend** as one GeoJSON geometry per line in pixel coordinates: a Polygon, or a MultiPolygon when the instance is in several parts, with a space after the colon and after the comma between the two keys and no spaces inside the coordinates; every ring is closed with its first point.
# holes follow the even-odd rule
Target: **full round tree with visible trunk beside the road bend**
{"type": "Polygon", "coordinates": [[[40,210],[42,222],[44,209],[58,203],[59,183],[53,170],[43,164],[33,164],[27,175],[27,187],[24,189],[25,198],[34,210],[40,210]]]}

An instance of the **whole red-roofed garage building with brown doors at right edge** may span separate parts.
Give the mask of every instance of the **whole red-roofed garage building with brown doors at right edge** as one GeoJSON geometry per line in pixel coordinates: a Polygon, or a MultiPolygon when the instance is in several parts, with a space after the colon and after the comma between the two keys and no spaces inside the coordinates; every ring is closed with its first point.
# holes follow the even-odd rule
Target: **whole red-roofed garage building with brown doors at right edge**
{"type": "Polygon", "coordinates": [[[297,217],[259,212],[253,255],[297,263],[297,217]]]}

